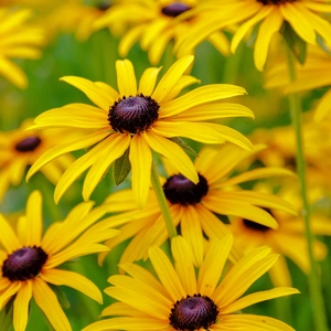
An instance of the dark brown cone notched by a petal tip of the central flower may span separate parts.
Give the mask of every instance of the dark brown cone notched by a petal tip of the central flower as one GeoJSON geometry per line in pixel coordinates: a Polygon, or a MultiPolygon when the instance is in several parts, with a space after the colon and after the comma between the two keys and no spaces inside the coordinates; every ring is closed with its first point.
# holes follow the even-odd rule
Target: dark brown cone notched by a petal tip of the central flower
{"type": "Polygon", "coordinates": [[[163,184],[166,197],[171,203],[182,205],[196,204],[207,194],[209,184],[206,179],[199,173],[199,183],[194,184],[182,174],[170,177],[163,184]]]}

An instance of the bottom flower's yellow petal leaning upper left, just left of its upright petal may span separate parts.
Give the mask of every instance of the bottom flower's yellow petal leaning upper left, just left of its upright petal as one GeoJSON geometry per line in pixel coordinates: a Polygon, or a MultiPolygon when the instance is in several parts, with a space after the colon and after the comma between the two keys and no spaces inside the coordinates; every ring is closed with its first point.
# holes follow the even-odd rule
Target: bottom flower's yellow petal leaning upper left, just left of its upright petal
{"type": "Polygon", "coordinates": [[[185,297],[185,290],[164,252],[153,246],[148,250],[148,256],[173,302],[185,297]]]}

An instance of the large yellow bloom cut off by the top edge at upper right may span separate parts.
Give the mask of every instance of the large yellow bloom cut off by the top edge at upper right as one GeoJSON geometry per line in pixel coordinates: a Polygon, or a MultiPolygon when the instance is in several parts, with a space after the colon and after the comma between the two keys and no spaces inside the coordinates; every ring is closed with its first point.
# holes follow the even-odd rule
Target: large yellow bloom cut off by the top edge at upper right
{"type": "Polygon", "coordinates": [[[210,6],[201,8],[202,14],[210,14],[209,20],[200,21],[183,35],[175,46],[179,56],[194,49],[211,33],[228,24],[239,24],[235,32],[231,51],[234,53],[245,38],[258,26],[254,62],[261,71],[268,54],[269,44],[275,33],[288,22],[296,34],[308,44],[316,45],[317,36],[331,41],[331,24],[321,14],[330,13],[331,4],[320,0],[212,0],[210,6]]]}

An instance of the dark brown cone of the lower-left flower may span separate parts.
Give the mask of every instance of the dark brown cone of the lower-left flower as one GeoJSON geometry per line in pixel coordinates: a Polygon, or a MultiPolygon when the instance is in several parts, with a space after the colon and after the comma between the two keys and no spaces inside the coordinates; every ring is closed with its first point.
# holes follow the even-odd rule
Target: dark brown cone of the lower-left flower
{"type": "Polygon", "coordinates": [[[23,247],[4,260],[2,277],[11,281],[28,280],[38,276],[47,259],[47,254],[41,247],[23,247]]]}

